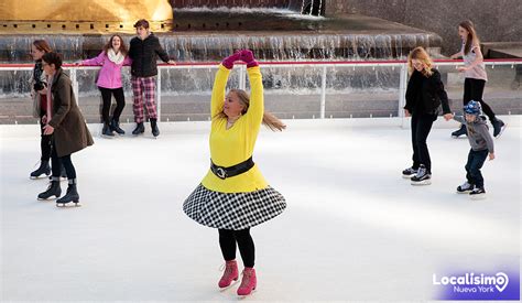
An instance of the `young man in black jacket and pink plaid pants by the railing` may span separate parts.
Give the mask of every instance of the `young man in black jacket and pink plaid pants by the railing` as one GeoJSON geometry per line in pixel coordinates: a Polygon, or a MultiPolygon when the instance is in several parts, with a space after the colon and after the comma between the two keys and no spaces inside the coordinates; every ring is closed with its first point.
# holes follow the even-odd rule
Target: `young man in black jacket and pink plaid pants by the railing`
{"type": "Polygon", "coordinates": [[[143,126],[143,94],[145,95],[145,106],[151,121],[152,134],[157,137],[157,111],[155,104],[155,76],[157,75],[157,56],[168,64],[175,64],[168,58],[167,53],[160,44],[160,40],[149,31],[149,22],[144,19],[138,20],[134,24],[137,35],[130,42],[129,57],[132,59],[131,82],[134,94],[134,121],[135,129],[132,134],[140,134],[145,131],[143,126]]]}

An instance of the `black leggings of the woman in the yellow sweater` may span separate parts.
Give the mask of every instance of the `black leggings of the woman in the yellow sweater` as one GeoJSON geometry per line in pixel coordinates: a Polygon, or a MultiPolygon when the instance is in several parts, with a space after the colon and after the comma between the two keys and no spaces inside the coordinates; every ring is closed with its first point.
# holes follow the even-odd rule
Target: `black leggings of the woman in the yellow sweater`
{"type": "Polygon", "coordinates": [[[219,246],[221,247],[222,258],[226,261],[236,259],[236,242],[239,246],[241,259],[247,268],[253,268],[255,259],[255,247],[253,246],[250,228],[241,230],[218,229],[219,246]]]}

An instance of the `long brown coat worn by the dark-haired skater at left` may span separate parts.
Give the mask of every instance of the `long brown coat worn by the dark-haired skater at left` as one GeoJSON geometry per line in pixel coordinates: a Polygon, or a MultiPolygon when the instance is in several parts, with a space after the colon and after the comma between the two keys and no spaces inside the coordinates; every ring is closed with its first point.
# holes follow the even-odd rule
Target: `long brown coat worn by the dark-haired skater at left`
{"type": "Polygon", "coordinates": [[[58,156],[72,154],[94,144],[73,93],[69,77],[56,71],[51,87],[53,115],[48,122],[54,128],[53,140],[58,156]]]}

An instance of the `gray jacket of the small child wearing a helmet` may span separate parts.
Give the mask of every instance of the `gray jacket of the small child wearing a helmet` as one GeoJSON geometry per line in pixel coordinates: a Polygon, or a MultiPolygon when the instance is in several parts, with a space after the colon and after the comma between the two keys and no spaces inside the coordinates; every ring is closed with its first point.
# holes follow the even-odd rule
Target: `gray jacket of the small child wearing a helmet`
{"type": "Polygon", "coordinates": [[[494,153],[493,137],[489,133],[485,117],[478,116],[471,123],[467,122],[463,116],[454,116],[453,119],[466,125],[469,144],[474,151],[488,150],[494,153]]]}

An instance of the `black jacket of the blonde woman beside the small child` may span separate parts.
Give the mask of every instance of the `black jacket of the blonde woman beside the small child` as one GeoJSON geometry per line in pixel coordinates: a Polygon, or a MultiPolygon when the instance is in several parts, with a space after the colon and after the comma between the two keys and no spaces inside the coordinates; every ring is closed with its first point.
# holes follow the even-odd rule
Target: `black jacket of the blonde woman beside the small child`
{"type": "Polygon", "coordinates": [[[448,96],[441,80],[441,73],[437,69],[432,69],[432,72],[433,74],[426,77],[415,69],[410,77],[404,109],[412,115],[438,115],[441,105],[444,115],[452,112],[448,96]]]}

